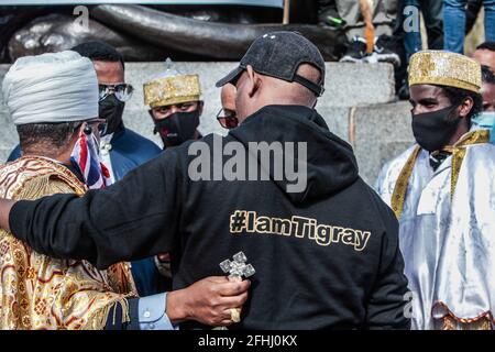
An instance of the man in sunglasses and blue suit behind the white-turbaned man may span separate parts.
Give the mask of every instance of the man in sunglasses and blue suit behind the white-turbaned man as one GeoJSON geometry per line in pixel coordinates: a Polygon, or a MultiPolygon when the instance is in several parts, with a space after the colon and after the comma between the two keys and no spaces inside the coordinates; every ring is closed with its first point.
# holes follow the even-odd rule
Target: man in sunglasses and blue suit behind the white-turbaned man
{"type": "MultiPolygon", "coordinates": [[[[160,147],[124,125],[122,116],[125,102],[134,88],[125,82],[125,64],[122,55],[102,42],[87,42],[73,48],[88,57],[95,65],[99,84],[99,116],[107,120],[100,143],[100,156],[109,166],[111,179],[122,179],[130,170],[161,153],[160,147]]],[[[158,256],[134,261],[131,271],[141,296],[155,295],[172,289],[163,275],[158,256]]]]}

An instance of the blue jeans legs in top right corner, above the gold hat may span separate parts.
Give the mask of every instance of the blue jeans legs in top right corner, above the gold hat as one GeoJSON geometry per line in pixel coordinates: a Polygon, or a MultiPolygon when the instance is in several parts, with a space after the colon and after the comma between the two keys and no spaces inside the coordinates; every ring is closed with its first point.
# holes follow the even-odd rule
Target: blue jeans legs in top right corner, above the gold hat
{"type": "MultiPolygon", "coordinates": [[[[464,53],[466,0],[443,0],[444,50],[464,53]]],[[[485,41],[495,41],[495,0],[483,0],[485,41]]]]}

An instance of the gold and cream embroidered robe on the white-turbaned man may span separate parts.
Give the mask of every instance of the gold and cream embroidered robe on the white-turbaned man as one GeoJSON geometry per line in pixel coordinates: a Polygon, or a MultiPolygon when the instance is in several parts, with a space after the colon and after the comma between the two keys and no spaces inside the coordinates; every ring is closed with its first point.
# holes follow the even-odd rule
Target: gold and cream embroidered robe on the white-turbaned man
{"type": "MultiPolygon", "coordinates": [[[[45,157],[28,155],[0,167],[6,198],[85,191],[70,170],[45,157]]],[[[128,298],[138,294],[125,263],[97,271],[85,261],[54,260],[3,230],[0,253],[0,329],[105,329],[119,304],[122,322],[130,320],[128,298]]]]}

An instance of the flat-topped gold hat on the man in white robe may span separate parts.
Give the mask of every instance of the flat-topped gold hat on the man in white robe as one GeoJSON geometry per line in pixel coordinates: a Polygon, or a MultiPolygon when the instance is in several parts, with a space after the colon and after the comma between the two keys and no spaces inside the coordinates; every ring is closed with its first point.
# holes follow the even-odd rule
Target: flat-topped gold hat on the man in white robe
{"type": "Polygon", "coordinates": [[[436,85],[461,88],[480,94],[481,65],[468,56],[422,51],[414,54],[409,63],[409,86],[436,85]]]}

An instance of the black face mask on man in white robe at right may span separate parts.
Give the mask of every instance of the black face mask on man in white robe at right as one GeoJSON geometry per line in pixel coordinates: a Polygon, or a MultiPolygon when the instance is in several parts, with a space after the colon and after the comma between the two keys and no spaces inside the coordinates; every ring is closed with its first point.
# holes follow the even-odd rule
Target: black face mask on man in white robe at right
{"type": "Polygon", "coordinates": [[[460,117],[452,117],[459,105],[448,108],[413,114],[413,133],[416,142],[428,152],[440,151],[446,146],[458,129],[460,117]]]}

